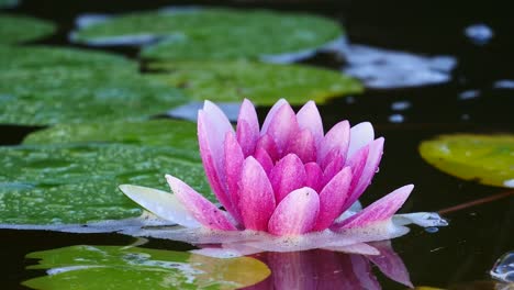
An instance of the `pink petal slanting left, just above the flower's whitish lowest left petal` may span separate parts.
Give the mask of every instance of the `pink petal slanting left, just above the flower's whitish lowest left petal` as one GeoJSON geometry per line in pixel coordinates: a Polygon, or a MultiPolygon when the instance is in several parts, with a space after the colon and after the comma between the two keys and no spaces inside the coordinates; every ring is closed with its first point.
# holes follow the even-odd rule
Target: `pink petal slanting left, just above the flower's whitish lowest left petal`
{"type": "Polygon", "coordinates": [[[236,231],[222,211],[180,179],[166,175],[171,191],[194,219],[209,228],[236,231]]]}

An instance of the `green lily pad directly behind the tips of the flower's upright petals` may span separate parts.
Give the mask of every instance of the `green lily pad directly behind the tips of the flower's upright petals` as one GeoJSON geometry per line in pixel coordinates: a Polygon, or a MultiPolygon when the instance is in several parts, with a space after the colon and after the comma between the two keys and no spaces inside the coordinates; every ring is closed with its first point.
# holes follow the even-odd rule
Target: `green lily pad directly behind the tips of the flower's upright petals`
{"type": "Polygon", "coordinates": [[[362,91],[359,81],[340,72],[302,66],[252,62],[174,62],[150,65],[165,70],[154,78],[182,88],[195,100],[239,102],[244,98],[256,104],[273,104],[284,98],[292,104],[362,91]]]}

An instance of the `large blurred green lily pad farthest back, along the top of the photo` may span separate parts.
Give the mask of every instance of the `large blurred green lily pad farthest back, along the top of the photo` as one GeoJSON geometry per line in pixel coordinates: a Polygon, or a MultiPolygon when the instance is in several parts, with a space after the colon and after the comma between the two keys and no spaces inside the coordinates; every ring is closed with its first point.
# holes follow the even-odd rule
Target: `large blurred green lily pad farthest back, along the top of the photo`
{"type": "Polygon", "coordinates": [[[74,40],[89,44],[141,44],[159,59],[234,59],[316,49],[343,35],[329,19],[265,10],[176,9],[125,14],[87,25],[74,40]]]}

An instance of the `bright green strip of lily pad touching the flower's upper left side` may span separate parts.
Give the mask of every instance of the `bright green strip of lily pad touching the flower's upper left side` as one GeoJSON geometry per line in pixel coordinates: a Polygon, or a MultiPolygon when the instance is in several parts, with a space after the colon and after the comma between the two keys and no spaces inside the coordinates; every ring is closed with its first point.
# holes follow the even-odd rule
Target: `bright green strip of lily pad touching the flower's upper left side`
{"type": "Polygon", "coordinates": [[[172,146],[198,154],[197,124],[178,120],[58,124],[36,131],[23,144],[125,143],[144,146],[172,146]]]}

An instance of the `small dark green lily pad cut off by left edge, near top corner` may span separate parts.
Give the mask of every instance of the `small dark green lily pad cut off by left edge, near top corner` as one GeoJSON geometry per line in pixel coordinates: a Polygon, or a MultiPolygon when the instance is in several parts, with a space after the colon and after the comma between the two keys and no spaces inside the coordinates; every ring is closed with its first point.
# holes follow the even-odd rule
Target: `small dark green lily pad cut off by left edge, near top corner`
{"type": "Polygon", "coordinates": [[[15,44],[48,36],[56,30],[51,22],[30,16],[0,14],[0,44],[15,44]]]}

